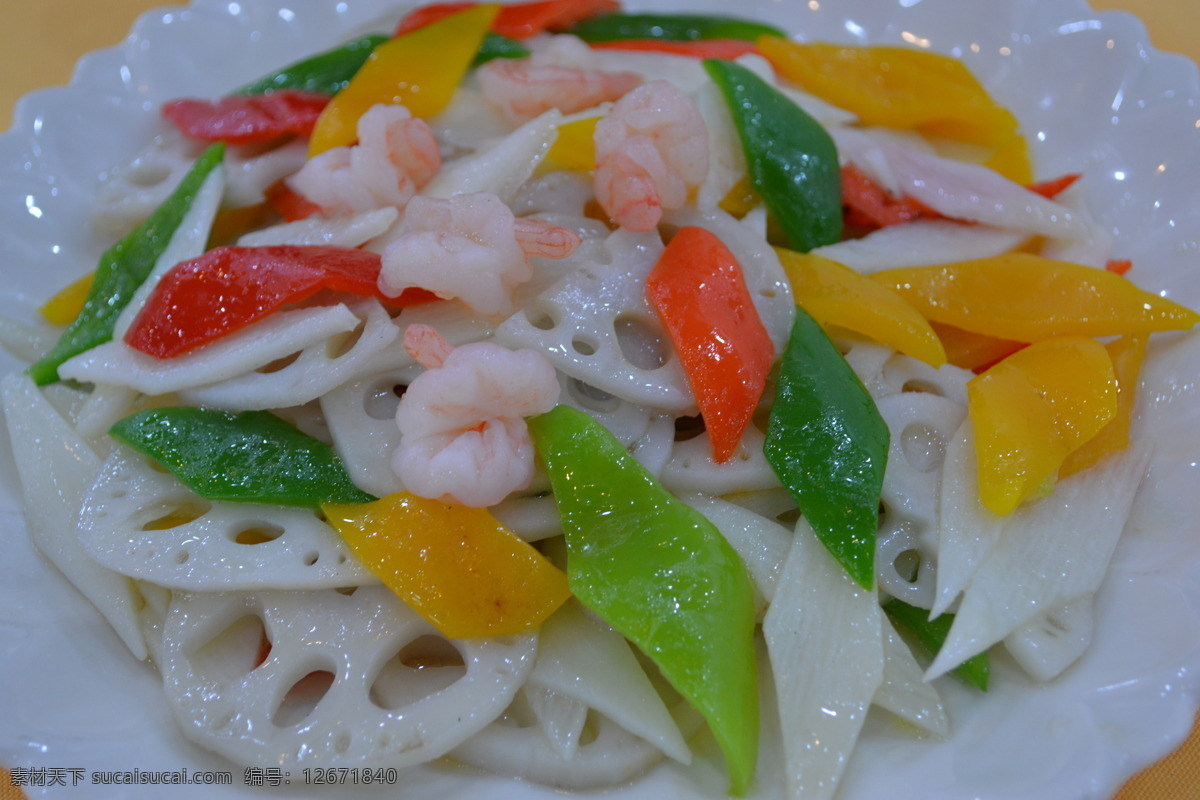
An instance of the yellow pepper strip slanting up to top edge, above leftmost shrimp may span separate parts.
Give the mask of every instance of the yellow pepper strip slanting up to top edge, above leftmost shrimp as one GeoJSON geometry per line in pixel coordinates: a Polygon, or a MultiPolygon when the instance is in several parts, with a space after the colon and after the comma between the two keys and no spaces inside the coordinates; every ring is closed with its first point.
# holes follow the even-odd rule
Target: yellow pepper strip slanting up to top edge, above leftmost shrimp
{"type": "Polygon", "coordinates": [[[353,144],[359,118],[377,103],[404,106],[419,118],[445,108],[499,8],[473,6],[377,47],[317,119],[310,157],[353,144]]]}

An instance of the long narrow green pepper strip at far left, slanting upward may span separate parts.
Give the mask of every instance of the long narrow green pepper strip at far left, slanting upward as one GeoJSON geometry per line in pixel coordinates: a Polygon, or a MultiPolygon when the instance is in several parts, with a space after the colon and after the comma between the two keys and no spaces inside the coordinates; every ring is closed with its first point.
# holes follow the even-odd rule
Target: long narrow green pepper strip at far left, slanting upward
{"type": "Polygon", "coordinates": [[[224,157],[224,145],[210,146],[192,166],[170,197],[140,225],[100,257],[96,277],[83,309],[41,361],[29,368],[38,386],[59,380],[59,367],[67,359],[113,338],[116,318],[133,299],[167,249],[170,237],[192,207],[204,180],[224,157]]]}

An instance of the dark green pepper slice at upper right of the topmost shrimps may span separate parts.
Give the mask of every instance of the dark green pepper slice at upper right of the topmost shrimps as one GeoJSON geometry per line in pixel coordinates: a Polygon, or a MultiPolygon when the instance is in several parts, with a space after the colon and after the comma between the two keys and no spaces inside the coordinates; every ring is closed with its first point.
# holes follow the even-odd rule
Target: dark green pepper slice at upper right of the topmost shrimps
{"type": "Polygon", "coordinates": [[[838,148],[791,98],[733,61],[706,59],[742,139],[750,184],[788,247],[806,253],[841,239],[838,148]]]}

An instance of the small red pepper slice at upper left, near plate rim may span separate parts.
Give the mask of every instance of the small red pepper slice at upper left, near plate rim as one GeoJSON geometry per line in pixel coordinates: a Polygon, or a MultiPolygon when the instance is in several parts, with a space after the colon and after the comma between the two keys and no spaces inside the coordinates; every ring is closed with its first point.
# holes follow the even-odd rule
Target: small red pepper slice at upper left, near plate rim
{"type": "Polygon", "coordinates": [[[282,89],[266,95],[230,95],[217,101],[173,100],[163,116],[203,142],[269,142],[289,133],[310,136],[329,104],[328,95],[282,89]]]}

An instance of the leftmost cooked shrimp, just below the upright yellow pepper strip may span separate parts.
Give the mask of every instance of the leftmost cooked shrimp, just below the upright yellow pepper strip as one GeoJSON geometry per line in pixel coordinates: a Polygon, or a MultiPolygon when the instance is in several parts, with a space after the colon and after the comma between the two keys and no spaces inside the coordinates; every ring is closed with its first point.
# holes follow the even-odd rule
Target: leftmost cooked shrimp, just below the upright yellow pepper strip
{"type": "Polygon", "coordinates": [[[442,168],[425,120],[403,106],[378,104],[359,119],[359,143],[318,154],[288,185],[329,215],[403,209],[442,168]]]}

